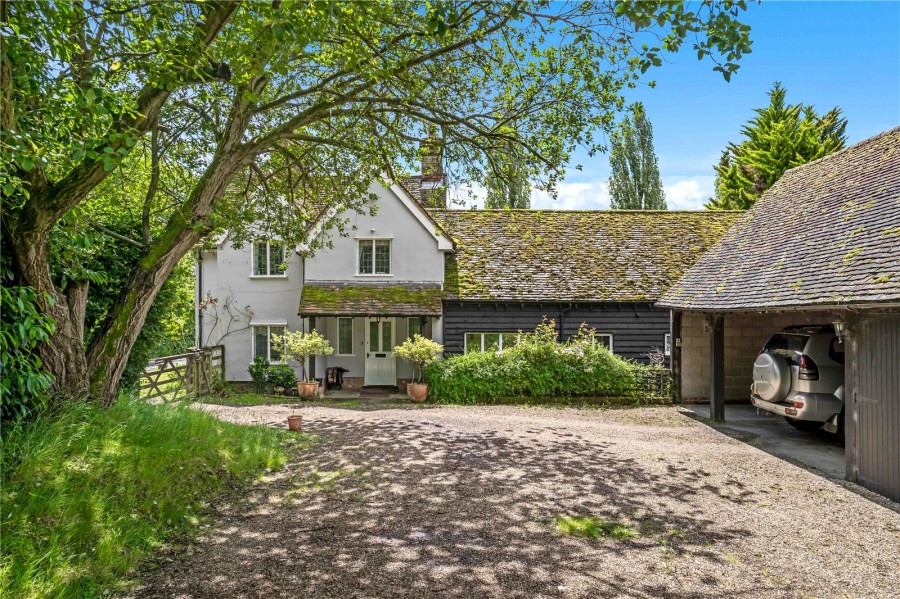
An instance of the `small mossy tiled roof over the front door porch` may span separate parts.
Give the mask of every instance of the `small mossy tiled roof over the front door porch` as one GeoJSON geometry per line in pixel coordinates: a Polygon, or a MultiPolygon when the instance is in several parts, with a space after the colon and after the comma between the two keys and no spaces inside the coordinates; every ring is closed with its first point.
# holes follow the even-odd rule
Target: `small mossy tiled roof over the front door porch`
{"type": "Polygon", "coordinates": [[[301,316],[440,316],[440,283],[314,281],[300,293],[301,316]]]}

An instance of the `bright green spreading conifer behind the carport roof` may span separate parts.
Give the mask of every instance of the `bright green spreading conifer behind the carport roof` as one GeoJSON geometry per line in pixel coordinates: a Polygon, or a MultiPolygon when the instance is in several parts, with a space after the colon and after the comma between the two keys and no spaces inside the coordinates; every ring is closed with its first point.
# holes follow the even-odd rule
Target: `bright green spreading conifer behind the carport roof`
{"type": "Polygon", "coordinates": [[[847,119],[839,107],[819,114],[806,104],[788,104],[787,89],[776,82],[769,105],[741,129],[744,139],[729,144],[714,168],[713,210],[747,210],[788,169],[827,156],[844,147],[847,119]]]}

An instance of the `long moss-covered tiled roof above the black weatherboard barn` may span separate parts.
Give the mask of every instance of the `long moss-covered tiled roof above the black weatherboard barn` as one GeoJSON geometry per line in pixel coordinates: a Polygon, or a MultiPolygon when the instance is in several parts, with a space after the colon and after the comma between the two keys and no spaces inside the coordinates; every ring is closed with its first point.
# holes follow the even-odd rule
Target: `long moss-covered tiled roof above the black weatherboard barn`
{"type": "Polygon", "coordinates": [[[456,242],[445,297],[656,301],[742,212],[432,211],[456,242]]]}

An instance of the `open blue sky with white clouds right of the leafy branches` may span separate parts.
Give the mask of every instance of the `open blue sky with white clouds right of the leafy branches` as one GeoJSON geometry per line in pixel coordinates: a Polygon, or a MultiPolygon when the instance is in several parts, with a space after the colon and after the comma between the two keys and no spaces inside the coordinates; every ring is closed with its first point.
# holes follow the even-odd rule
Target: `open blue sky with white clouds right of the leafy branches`
{"type": "MultiPolygon", "coordinates": [[[[660,173],[670,209],[699,209],[713,192],[712,165],[729,141],[740,138],[752,109],[767,103],[775,81],[788,101],[820,111],[840,106],[848,144],[900,125],[900,3],[774,2],[753,5],[753,52],[726,83],[712,63],[691,52],[670,55],[648,73],[656,87],[632,90],[653,123],[660,173]]],[[[559,199],[535,193],[532,206],[556,209],[609,207],[609,158],[578,153],[560,185],[559,199]]]]}

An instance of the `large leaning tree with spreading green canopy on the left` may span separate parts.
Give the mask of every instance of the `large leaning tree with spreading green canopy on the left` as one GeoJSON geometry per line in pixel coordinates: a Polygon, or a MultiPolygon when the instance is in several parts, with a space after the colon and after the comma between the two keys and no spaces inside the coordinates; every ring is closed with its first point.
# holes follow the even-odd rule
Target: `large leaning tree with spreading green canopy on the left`
{"type": "Polygon", "coordinates": [[[744,9],[0,1],[3,251],[11,284],[48,298],[56,333],[40,352],[56,390],[112,401],[161,285],[198,242],[223,230],[304,241],[322,202],[363,209],[371,180],[410,165],[430,127],[457,180],[511,141],[552,189],[665,52],[689,38],[734,72],[744,9]],[[61,274],[51,251],[88,228],[140,249],[103,283],[119,300],[89,334],[89,262],[61,274]]]}

